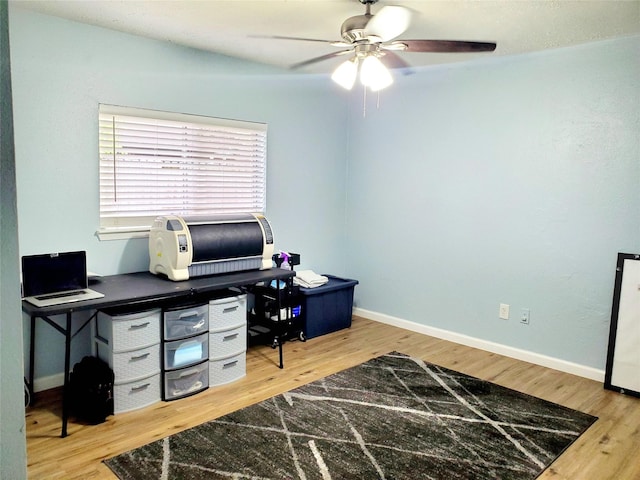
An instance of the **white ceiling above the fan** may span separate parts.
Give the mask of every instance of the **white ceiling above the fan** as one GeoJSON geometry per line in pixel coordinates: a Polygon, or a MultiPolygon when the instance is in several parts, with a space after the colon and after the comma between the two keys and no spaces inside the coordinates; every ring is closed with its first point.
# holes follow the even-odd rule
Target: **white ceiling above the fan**
{"type": "MultiPolygon", "coordinates": [[[[180,45],[288,67],[339,50],[329,44],[256,38],[340,39],[358,0],[11,0],[13,6],[180,45]]],[[[512,55],[640,34],[640,0],[381,0],[413,11],[399,38],[496,42],[493,53],[402,53],[414,66],[512,55]]],[[[338,57],[303,71],[328,72],[338,57]]]]}

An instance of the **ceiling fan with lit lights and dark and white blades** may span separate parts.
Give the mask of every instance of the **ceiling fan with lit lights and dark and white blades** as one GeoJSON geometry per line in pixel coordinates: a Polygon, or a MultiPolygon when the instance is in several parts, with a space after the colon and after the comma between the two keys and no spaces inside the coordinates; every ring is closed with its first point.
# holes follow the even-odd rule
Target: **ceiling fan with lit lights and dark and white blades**
{"type": "Polygon", "coordinates": [[[343,47],[333,53],[296,63],[291,68],[329,60],[334,57],[351,55],[333,72],[332,79],[350,90],[360,73],[360,80],[372,91],[381,90],[393,82],[389,68],[410,69],[410,65],[395,52],[492,52],[495,43],[469,42],[461,40],[394,40],[408,27],[411,10],[405,7],[388,5],[373,15],[371,5],[378,0],[359,0],[365,5],[364,15],[356,15],[344,21],[341,28],[342,40],[329,41],[314,38],[274,36],[282,40],[304,40],[328,43],[334,47],[343,47]]]}

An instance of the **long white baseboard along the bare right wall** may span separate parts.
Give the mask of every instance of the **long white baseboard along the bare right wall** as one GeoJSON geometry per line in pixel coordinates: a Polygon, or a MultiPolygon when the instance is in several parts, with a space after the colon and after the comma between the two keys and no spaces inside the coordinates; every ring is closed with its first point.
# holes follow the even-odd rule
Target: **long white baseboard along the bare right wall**
{"type": "Polygon", "coordinates": [[[589,378],[598,382],[604,382],[604,370],[599,370],[597,368],[587,367],[578,363],[568,362],[566,360],[549,357],[547,355],[541,355],[535,352],[529,352],[527,350],[521,350],[519,348],[510,347],[508,345],[489,342],[487,340],[462,335],[460,333],[443,330],[441,328],[430,327],[421,323],[411,322],[409,320],[392,317],[383,313],[372,312],[363,308],[354,308],[353,314],[359,317],[367,318],[369,320],[374,320],[376,322],[393,325],[394,327],[411,330],[412,332],[422,333],[424,335],[440,338],[442,340],[448,340],[450,342],[459,343],[468,347],[479,348],[480,350],[485,350],[487,352],[497,353],[506,357],[515,358],[516,360],[523,360],[525,362],[540,365],[542,367],[553,368],[554,370],[559,370],[561,372],[578,375],[580,377],[589,378]]]}

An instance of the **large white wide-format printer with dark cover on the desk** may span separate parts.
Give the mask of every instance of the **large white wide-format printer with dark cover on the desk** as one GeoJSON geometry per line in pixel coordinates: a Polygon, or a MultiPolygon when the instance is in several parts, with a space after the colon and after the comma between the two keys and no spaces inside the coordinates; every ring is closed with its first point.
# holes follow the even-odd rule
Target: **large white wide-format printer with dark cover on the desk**
{"type": "Polygon", "coordinates": [[[171,280],[271,268],[273,233],[260,214],[161,216],[149,232],[149,271],[171,280]]]}

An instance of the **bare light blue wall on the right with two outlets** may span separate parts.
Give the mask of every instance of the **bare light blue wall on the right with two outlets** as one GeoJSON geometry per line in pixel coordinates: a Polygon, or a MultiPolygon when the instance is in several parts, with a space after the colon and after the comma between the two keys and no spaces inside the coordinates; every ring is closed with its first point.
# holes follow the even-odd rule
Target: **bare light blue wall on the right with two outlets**
{"type": "Polygon", "coordinates": [[[356,305],[604,369],[616,255],[640,251],[639,78],[635,37],[427,68],[365,118],[354,96],[356,305]]]}

